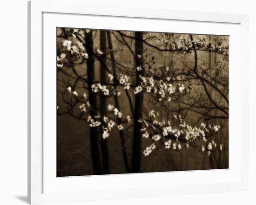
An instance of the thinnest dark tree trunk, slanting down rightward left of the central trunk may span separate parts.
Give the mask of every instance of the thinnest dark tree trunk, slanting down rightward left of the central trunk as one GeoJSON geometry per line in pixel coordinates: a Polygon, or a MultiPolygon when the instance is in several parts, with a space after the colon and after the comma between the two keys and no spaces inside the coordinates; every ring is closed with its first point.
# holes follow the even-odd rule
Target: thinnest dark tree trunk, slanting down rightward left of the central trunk
{"type": "MultiPolygon", "coordinates": [[[[114,57],[114,52],[112,51],[113,49],[113,45],[112,45],[112,41],[111,41],[111,37],[110,37],[110,32],[107,32],[108,35],[108,48],[110,51],[110,58],[111,58],[111,65],[112,65],[112,69],[113,69],[113,76],[114,79],[116,79],[116,70],[115,70],[115,57],[114,57]]],[[[115,86],[116,89],[116,86],[115,86]]],[[[119,106],[119,102],[118,102],[118,97],[117,95],[114,95],[114,101],[115,101],[115,107],[120,110],[120,106],[119,106]]],[[[121,119],[118,118],[118,123],[121,123],[121,119]]],[[[128,162],[128,154],[127,154],[127,150],[126,150],[126,146],[125,146],[125,140],[124,140],[124,133],[122,130],[119,130],[119,134],[120,134],[120,138],[121,138],[121,147],[122,147],[122,155],[123,155],[123,160],[124,160],[124,165],[125,165],[125,169],[126,169],[126,173],[130,173],[130,168],[129,168],[129,162],[128,162]]]]}

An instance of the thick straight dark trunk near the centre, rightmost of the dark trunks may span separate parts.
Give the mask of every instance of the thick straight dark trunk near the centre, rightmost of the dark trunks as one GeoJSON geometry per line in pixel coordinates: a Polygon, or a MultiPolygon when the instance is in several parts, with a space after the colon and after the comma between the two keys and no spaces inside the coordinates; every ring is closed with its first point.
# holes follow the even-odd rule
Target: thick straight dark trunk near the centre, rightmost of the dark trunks
{"type": "MultiPolygon", "coordinates": [[[[141,85],[141,78],[143,76],[143,34],[142,32],[135,32],[135,66],[141,66],[142,70],[136,70],[136,86],[141,85]],[[141,56],[139,58],[138,56],[141,56]]],[[[134,139],[133,139],[133,156],[132,156],[132,172],[138,173],[141,169],[141,122],[143,108],[143,92],[135,95],[135,109],[134,109],[134,139]]]]}

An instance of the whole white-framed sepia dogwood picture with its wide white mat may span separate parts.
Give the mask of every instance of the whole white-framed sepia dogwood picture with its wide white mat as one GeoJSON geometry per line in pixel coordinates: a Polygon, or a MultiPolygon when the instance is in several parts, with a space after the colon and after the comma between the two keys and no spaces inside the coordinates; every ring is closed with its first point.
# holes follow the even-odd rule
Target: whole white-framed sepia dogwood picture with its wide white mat
{"type": "Polygon", "coordinates": [[[247,15],[28,11],[30,204],[248,188],[247,15]]]}

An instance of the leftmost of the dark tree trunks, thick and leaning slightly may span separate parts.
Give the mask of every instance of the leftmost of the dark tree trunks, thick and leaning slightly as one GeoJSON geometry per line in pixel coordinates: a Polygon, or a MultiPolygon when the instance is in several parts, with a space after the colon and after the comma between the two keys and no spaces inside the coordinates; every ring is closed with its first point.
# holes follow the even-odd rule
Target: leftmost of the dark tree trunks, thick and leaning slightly
{"type": "MultiPolygon", "coordinates": [[[[94,118],[95,110],[96,110],[96,96],[92,91],[92,84],[94,83],[94,51],[93,51],[92,32],[89,32],[86,34],[85,45],[86,45],[86,51],[88,53],[87,73],[88,73],[89,102],[92,108],[90,115],[94,118]]],[[[98,132],[96,127],[90,127],[90,143],[91,143],[91,156],[92,156],[94,174],[101,174],[101,160],[100,160],[100,154],[99,154],[98,132]]]]}

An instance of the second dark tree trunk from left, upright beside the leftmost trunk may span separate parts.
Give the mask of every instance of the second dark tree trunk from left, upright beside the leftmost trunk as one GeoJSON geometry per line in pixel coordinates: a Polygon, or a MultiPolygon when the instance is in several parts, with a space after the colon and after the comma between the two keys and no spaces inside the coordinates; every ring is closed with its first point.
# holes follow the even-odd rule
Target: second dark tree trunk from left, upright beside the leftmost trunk
{"type": "MultiPolygon", "coordinates": [[[[106,31],[101,30],[100,31],[100,50],[103,52],[101,54],[101,64],[100,64],[100,72],[101,72],[101,84],[106,83],[106,71],[105,67],[103,64],[106,64],[106,31]]],[[[101,124],[104,124],[103,116],[105,115],[106,112],[106,97],[101,96],[101,101],[100,101],[100,110],[101,110],[101,124]]],[[[103,165],[103,174],[109,174],[109,162],[108,162],[108,145],[107,141],[108,139],[103,139],[102,134],[103,134],[103,129],[100,129],[100,142],[101,142],[101,158],[102,158],[102,165],[103,165]]]]}

